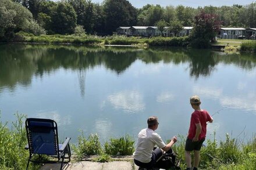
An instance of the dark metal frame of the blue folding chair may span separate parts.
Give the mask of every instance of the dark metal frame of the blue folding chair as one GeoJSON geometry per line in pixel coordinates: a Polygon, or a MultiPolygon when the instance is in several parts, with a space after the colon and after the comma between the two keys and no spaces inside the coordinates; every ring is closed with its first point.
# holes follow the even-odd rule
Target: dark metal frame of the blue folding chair
{"type": "Polygon", "coordinates": [[[25,149],[29,149],[29,160],[27,161],[27,168],[29,168],[29,162],[36,162],[36,163],[57,163],[61,162],[61,169],[63,167],[63,163],[68,163],[70,162],[70,157],[71,157],[71,152],[70,152],[70,146],[69,146],[69,140],[71,138],[66,138],[65,142],[62,143],[61,148],[59,148],[59,140],[58,140],[58,127],[57,123],[54,120],[50,119],[43,119],[43,118],[27,118],[26,122],[26,131],[27,131],[27,140],[28,144],[26,145],[25,149]],[[44,155],[49,155],[51,157],[57,158],[56,161],[35,161],[33,160],[33,155],[42,155],[36,153],[36,151],[33,150],[33,141],[31,137],[31,127],[30,127],[30,122],[35,121],[35,122],[47,122],[51,123],[52,127],[48,127],[49,129],[52,129],[54,131],[54,141],[55,141],[55,155],[49,155],[49,154],[44,154],[44,155]],[[67,156],[65,156],[67,154],[67,156]],[[64,161],[67,159],[67,161],[64,161]]]}

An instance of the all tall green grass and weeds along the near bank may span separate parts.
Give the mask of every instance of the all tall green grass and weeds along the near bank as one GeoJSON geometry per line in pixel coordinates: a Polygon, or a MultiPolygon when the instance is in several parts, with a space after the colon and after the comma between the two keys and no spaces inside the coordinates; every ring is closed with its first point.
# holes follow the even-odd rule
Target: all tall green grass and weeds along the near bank
{"type": "MultiPolygon", "coordinates": [[[[29,151],[24,150],[27,144],[24,129],[25,115],[16,114],[17,121],[12,122],[12,128],[7,123],[0,122],[0,169],[25,169],[29,151]],[[21,156],[22,155],[22,156],[21,156]]],[[[78,144],[72,144],[73,153],[77,160],[88,155],[99,155],[94,161],[111,161],[111,155],[131,155],[134,151],[134,139],[126,135],[120,138],[109,138],[104,144],[99,142],[100,136],[85,136],[83,132],[78,137],[78,144]]],[[[179,136],[173,149],[181,161],[181,167],[186,168],[184,162],[184,144],[186,138],[179,136]]],[[[30,169],[38,169],[40,165],[31,164],[30,169]]],[[[247,143],[226,135],[226,140],[217,143],[207,140],[201,150],[200,169],[256,169],[256,136],[247,143]]]]}

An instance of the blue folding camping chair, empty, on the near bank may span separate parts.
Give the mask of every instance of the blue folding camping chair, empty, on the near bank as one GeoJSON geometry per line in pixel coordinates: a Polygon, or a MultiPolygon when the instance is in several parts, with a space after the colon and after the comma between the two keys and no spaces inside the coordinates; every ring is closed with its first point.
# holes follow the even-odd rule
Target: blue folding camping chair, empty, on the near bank
{"type": "Polygon", "coordinates": [[[26,120],[27,140],[29,144],[25,149],[29,149],[29,162],[42,163],[56,163],[61,162],[61,169],[63,163],[70,162],[70,138],[66,138],[65,142],[59,144],[58,128],[54,120],[42,118],[27,118],[26,120]],[[34,159],[33,156],[49,155],[54,159],[51,161],[42,161],[43,159],[34,159]],[[39,161],[38,161],[39,160],[39,161]],[[65,160],[65,161],[64,161],[65,160]]]}

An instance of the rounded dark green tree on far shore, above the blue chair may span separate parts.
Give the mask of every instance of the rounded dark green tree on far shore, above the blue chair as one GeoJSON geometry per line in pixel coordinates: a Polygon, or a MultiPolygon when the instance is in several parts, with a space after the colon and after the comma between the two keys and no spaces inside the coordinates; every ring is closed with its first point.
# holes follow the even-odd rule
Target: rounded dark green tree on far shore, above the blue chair
{"type": "Polygon", "coordinates": [[[57,34],[72,34],[76,27],[76,12],[67,2],[59,2],[52,15],[52,29],[57,34]]]}

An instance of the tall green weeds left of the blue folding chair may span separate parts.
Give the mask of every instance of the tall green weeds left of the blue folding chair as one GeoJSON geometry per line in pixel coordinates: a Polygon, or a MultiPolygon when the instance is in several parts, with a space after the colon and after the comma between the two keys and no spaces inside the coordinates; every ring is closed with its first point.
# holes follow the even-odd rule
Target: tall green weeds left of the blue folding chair
{"type": "MultiPolygon", "coordinates": [[[[24,128],[23,114],[16,114],[17,121],[12,122],[12,128],[7,127],[8,122],[0,121],[0,169],[26,169],[29,151],[24,147],[27,144],[26,129],[24,128]]],[[[30,165],[31,169],[39,169],[38,165],[30,165]]]]}

